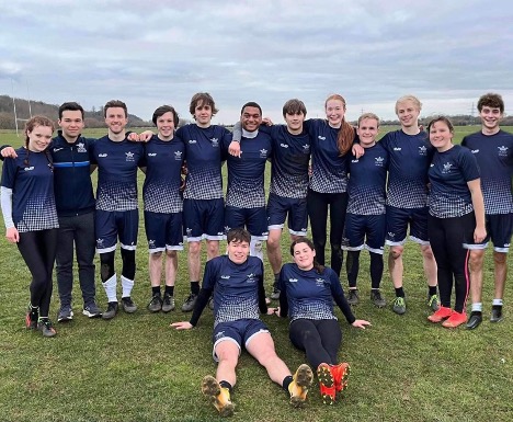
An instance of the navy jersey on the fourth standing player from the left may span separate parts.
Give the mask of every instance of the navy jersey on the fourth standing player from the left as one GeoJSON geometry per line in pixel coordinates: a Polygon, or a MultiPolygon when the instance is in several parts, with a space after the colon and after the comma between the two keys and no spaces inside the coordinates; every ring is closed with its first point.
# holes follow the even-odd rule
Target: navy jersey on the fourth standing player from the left
{"type": "Polygon", "coordinates": [[[182,164],[185,146],[182,139],[160,140],[153,135],[145,145],[146,179],[142,186],[145,210],[180,213],[182,210],[182,164]]]}

